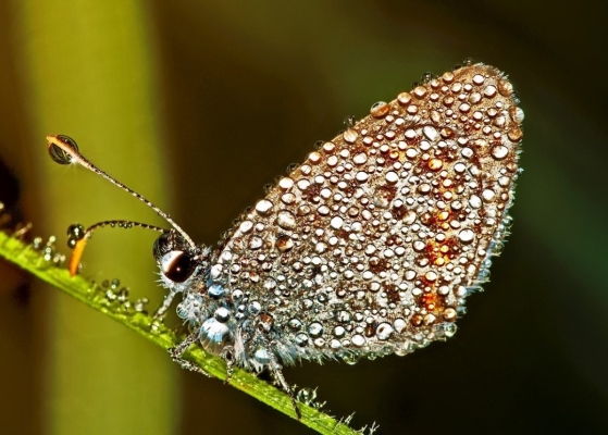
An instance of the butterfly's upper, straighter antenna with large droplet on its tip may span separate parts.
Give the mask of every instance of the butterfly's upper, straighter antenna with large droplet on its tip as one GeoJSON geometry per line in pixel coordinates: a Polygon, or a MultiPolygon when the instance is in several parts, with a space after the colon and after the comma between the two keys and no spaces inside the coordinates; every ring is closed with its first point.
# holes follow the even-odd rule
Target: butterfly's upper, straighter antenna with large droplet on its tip
{"type": "Polygon", "coordinates": [[[102,176],[113,185],[119,186],[121,189],[133,195],[135,198],[139,199],[150,209],[156,211],[159,216],[161,216],[166,222],[169,222],[169,224],[173,226],[175,232],[177,232],[177,234],[179,234],[179,236],[182,236],[182,238],[190,246],[193,251],[196,250],[196,244],[193,241],[193,239],[186,234],[184,229],[182,229],[179,225],[177,225],[173,221],[173,219],[171,219],[169,214],[166,214],[164,211],[159,209],[152,202],[148,201],[145,197],[142,197],[135,190],[128,188],[127,186],[125,186],[117,179],[111,177],[106,172],[101,171],[95,164],[89,162],[83,154],[80,154],[80,152],[78,151],[78,146],[76,145],[76,141],[74,139],[64,135],[49,135],[47,136],[47,141],[48,141],[49,154],[51,156],[51,159],[54,162],[59,164],[78,163],[80,166],[84,166],[87,170],[95,172],[97,175],[102,176]]]}

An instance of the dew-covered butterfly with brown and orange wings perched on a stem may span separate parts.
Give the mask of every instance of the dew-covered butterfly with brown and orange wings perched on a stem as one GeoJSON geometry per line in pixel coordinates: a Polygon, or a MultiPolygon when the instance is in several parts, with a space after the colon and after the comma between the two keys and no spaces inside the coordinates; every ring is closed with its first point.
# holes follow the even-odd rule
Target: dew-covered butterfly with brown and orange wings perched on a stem
{"type": "MultiPolygon", "coordinates": [[[[268,369],[299,417],[283,365],[404,356],[455,334],[511,224],[518,104],[493,66],[469,61],[425,74],[409,92],[348,120],[214,248],[98,170],[70,137],[47,139],[53,160],[92,170],[172,225],[153,227],[162,232],[153,254],[169,291],[157,314],[181,295],[177,314],[190,331],[173,359],[200,372],[182,358],[200,343],[226,361],[228,377],[234,366],[268,369]]],[[[94,227],[71,228],[75,273],[94,227]]]]}

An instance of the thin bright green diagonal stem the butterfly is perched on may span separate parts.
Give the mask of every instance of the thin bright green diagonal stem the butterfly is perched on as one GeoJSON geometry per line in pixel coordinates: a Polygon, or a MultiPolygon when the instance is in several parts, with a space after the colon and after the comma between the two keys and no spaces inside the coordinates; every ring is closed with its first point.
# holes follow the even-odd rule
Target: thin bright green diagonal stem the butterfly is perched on
{"type": "MultiPolygon", "coordinates": [[[[102,312],[164,349],[179,343],[177,334],[164,324],[154,321],[144,312],[134,309],[126,310],[124,303],[110,302],[106,298],[104,291],[102,291],[104,289],[87,282],[82,276],[71,277],[67,270],[58,268],[52,262],[45,260],[40,251],[2,232],[0,232],[0,257],[73,296],[90,308],[102,312]]],[[[219,357],[207,353],[199,346],[191,346],[184,353],[184,358],[212,376],[221,381],[226,380],[224,361],[219,357]]],[[[289,397],[252,374],[243,370],[235,370],[229,385],[296,419],[289,397]]],[[[298,403],[298,407],[302,414],[300,422],[321,434],[360,433],[315,408],[305,403],[298,403]]]]}

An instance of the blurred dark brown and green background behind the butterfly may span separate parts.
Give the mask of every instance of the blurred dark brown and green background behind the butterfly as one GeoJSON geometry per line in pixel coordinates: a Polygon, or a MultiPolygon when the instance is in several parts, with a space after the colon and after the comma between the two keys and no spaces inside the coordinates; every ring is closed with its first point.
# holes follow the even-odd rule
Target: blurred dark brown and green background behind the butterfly
{"type": "MultiPolygon", "coordinates": [[[[598,433],[608,426],[606,8],[601,1],[0,2],[0,200],[34,234],[149,210],[213,244],[262,186],[347,115],[464,58],[509,73],[525,112],[513,234],[460,332],[407,358],[287,369],[380,433],[598,433]]],[[[85,274],[151,306],[151,245],[100,231],[85,274]]],[[[65,248],[65,251],[67,249],[65,248]]],[[[310,433],[179,370],[160,349],[0,263],[0,433],[310,433]]]]}

